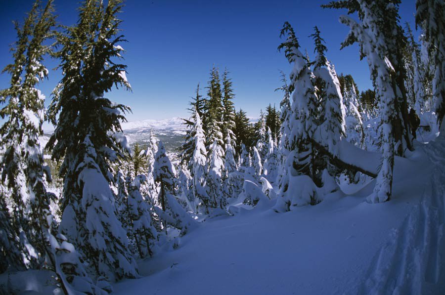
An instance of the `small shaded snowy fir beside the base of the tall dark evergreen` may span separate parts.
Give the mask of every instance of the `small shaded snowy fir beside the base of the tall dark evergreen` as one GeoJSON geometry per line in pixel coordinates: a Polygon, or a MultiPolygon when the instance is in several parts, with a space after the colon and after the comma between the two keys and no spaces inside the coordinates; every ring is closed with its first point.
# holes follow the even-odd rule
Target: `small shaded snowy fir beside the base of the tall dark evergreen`
{"type": "Polygon", "coordinates": [[[157,240],[157,231],[151,219],[148,204],[144,202],[140,194],[140,184],[145,182],[144,175],[136,175],[134,179],[127,176],[126,185],[128,196],[126,200],[128,218],[131,223],[130,236],[139,257],[144,258],[153,254],[152,248],[157,240]]]}

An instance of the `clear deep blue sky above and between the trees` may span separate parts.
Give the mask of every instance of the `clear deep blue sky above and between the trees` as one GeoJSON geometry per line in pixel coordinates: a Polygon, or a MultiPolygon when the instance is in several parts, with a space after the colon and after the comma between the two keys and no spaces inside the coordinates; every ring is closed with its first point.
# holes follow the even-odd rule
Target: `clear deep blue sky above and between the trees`
{"type": "MultiPolygon", "coordinates": [[[[23,20],[33,0],[1,0],[0,66],[11,61],[9,45],[15,41],[13,20],[23,20]]],[[[77,21],[78,0],[55,0],[58,21],[77,21]]],[[[357,46],[339,50],[348,28],[338,22],[345,11],[322,9],[323,1],[240,1],[240,0],[128,0],[122,29],[128,43],[125,62],[133,92],[113,91],[108,97],[132,107],[129,121],[187,116],[185,108],[196,84],[207,85],[213,64],[231,73],[235,106],[257,117],[269,103],[279,104],[278,70],[290,72],[284,54],[277,51],[279,31],[284,21],[294,27],[301,45],[313,56],[313,26],[317,25],[328,47],[327,56],[337,72],[352,74],[360,90],[371,87],[365,61],[359,61],[357,46]]],[[[403,0],[402,22],[414,27],[415,1],[403,0]]],[[[56,65],[47,63],[48,68],[56,65]]],[[[41,85],[47,97],[60,80],[50,72],[41,85]]],[[[9,77],[0,76],[0,87],[9,77]]],[[[47,99],[49,101],[49,99],[47,99]]],[[[45,129],[48,127],[46,126],[45,129]]]]}

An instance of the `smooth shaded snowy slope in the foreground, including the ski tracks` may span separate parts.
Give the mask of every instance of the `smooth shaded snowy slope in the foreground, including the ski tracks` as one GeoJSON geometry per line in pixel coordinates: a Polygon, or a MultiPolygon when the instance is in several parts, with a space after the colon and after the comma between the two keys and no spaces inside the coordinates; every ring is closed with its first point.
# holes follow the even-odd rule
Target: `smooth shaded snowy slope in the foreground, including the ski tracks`
{"type": "Polygon", "coordinates": [[[177,250],[141,261],[144,277],[115,292],[443,294],[444,141],[396,165],[390,202],[365,203],[371,182],[313,207],[275,213],[268,204],[208,220],[177,250]]]}

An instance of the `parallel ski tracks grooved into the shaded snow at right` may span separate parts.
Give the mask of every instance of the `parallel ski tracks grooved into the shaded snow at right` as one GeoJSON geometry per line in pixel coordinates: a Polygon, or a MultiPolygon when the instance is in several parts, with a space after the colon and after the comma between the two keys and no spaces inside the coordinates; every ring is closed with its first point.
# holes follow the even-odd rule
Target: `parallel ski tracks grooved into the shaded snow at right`
{"type": "Polygon", "coordinates": [[[375,255],[367,279],[347,294],[445,294],[445,138],[425,145],[423,151],[434,168],[420,204],[375,255]]]}

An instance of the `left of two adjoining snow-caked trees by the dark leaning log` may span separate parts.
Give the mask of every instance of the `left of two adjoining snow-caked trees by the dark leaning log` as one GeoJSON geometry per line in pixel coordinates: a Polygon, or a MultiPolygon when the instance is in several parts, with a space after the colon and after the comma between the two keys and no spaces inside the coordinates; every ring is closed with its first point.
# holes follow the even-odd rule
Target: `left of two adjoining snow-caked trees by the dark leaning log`
{"type": "MultiPolygon", "coordinates": [[[[314,187],[315,179],[314,161],[315,150],[312,145],[312,138],[317,128],[318,101],[314,87],[314,76],[309,68],[309,60],[299,50],[300,44],[295,36],[295,32],[288,22],[284,23],[281,30],[281,37],[286,36],[286,41],[278,46],[283,49],[286,58],[293,69],[290,74],[292,84],[292,116],[289,118],[289,146],[291,148],[286,157],[285,171],[279,181],[279,198],[275,206],[276,211],[289,211],[290,206],[302,206],[315,204],[315,193],[299,194],[294,196],[294,191],[289,191],[291,183],[295,183],[295,175],[307,175],[309,177],[299,178],[298,181],[310,183],[307,186],[314,187]],[[287,35],[287,36],[286,36],[287,35]]],[[[297,177],[298,178],[298,177],[297,177]]],[[[300,183],[303,185],[303,183],[300,183]]],[[[296,189],[296,188],[294,188],[296,189]]]]}

